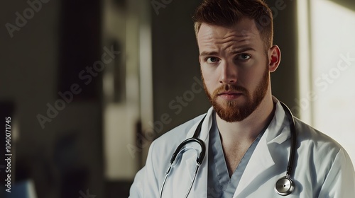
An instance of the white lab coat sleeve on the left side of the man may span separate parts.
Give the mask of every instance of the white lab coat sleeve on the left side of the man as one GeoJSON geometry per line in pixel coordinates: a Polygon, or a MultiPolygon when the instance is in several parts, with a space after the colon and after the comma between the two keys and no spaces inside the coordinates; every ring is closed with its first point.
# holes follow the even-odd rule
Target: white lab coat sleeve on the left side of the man
{"type": "Polygon", "coordinates": [[[158,197],[159,187],[153,165],[154,146],[155,141],[149,148],[146,165],[134,177],[129,191],[129,197],[131,198],[158,197]]]}

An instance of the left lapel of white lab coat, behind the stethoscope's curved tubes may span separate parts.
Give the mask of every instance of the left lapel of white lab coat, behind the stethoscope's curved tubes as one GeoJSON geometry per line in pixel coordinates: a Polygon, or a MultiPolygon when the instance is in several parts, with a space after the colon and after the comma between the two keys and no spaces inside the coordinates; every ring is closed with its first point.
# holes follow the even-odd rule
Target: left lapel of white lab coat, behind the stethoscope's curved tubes
{"type": "MultiPolygon", "coordinates": [[[[206,153],[204,156],[204,160],[202,164],[200,165],[200,169],[197,172],[196,179],[194,182],[194,185],[192,186],[192,190],[189,194],[190,197],[207,197],[207,173],[208,173],[208,144],[209,144],[209,129],[211,129],[212,126],[212,112],[213,108],[209,108],[207,111],[207,115],[204,118],[204,122],[202,123],[202,128],[201,128],[201,133],[199,138],[204,141],[204,144],[206,146],[206,153]]],[[[187,133],[186,139],[191,138],[193,134],[195,133],[195,129],[197,128],[197,125],[200,122],[197,122],[197,124],[194,125],[190,129],[190,131],[187,133]]],[[[198,147],[197,147],[198,148],[198,147]]],[[[195,168],[196,168],[196,156],[190,156],[190,158],[187,158],[185,161],[187,171],[190,173],[190,182],[192,182],[193,176],[195,174],[195,168]]],[[[190,183],[189,183],[190,185],[190,183]]]]}

